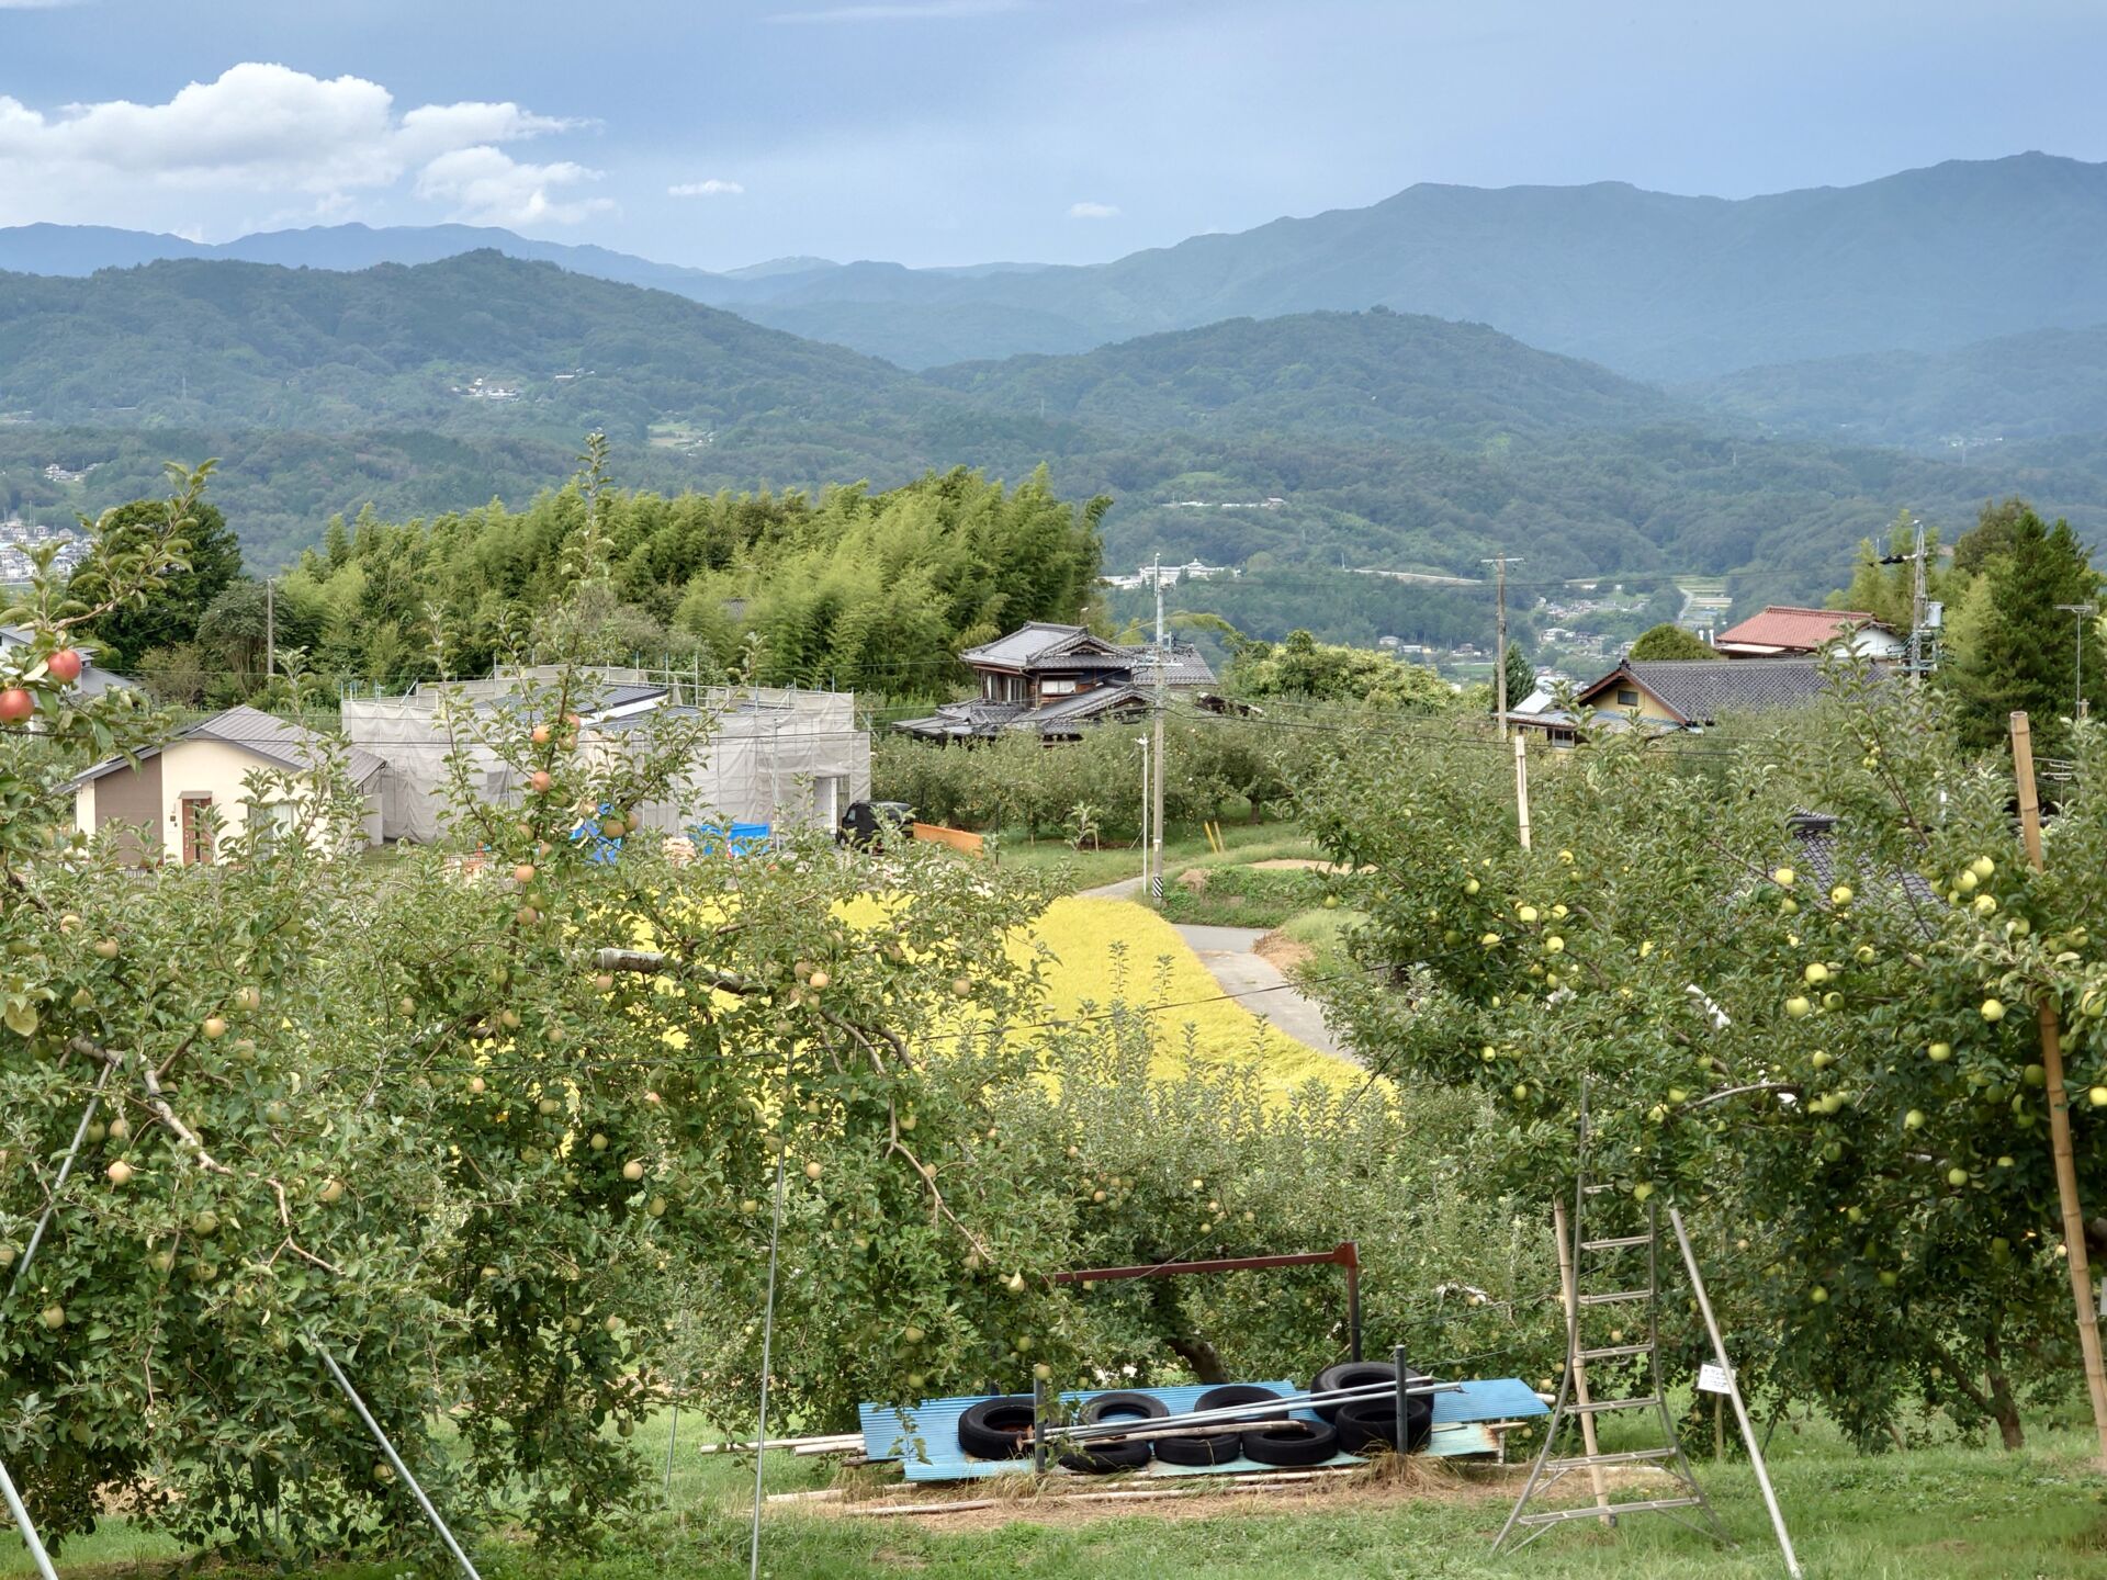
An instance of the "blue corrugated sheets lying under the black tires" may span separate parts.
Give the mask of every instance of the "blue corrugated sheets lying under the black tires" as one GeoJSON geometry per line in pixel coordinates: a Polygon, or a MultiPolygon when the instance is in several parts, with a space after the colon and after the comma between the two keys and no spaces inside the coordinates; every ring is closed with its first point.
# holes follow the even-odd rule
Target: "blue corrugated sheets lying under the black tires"
{"type": "MultiPolygon", "coordinates": [[[[1298,1382],[1260,1382],[1260,1388],[1275,1388],[1281,1395],[1302,1393],[1298,1382]]],[[[1085,1393],[1064,1393],[1066,1403],[1083,1403],[1085,1399],[1096,1399],[1102,1390],[1085,1393]]],[[[1184,1388],[1134,1388],[1134,1393],[1146,1393],[1169,1405],[1171,1414],[1190,1411],[1199,1397],[1207,1393],[1205,1386],[1184,1386],[1184,1388]]],[[[858,1416],[864,1428],[864,1454],[872,1460],[904,1460],[908,1481],[969,1481],[973,1477],[1005,1475],[1018,1470],[1030,1470],[1032,1462],[1024,1460],[976,1460],[963,1447],[959,1447],[959,1416],[967,1407],[978,1405],[986,1395],[967,1395],[963,1399],[925,1399],[908,1416],[887,1405],[860,1405],[858,1416]]],[[[1521,1378],[1490,1378],[1483,1382],[1466,1382],[1456,1393],[1435,1395],[1435,1430],[1426,1443],[1426,1451],[1445,1458],[1456,1454],[1492,1454],[1496,1443],[1492,1433],[1488,1433],[1479,1422],[1490,1420],[1515,1420],[1517,1416],[1544,1416],[1549,1414],[1536,1390],[1530,1388],[1521,1378]]],[[[1289,1411],[1296,1420],[1317,1420],[1315,1411],[1294,1409],[1289,1411]]],[[[1351,1454],[1338,1454],[1330,1464],[1361,1464],[1351,1454]]],[[[1146,1470],[1138,1475],[1153,1477],[1188,1477],[1188,1475],[1230,1475],[1237,1470],[1273,1470],[1277,1466],[1258,1464],[1256,1460],[1230,1460],[1226,1464],[1207,1466],[1186,1466],[1186,1464],[1161,1464],[1157,1460],[1148,1462],[1146,1470]]]]}

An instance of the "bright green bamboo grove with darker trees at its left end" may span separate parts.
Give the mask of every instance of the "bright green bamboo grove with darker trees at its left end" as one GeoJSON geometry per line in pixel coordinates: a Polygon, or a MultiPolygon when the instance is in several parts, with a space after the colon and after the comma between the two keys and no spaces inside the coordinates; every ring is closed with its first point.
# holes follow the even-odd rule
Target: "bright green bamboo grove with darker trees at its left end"
{"type": "MultiPolygon", "coordinates": [[[[668,497],[588,470],[518,512],[333,518],[276,577],[280,674],[268,676],[263,586],[240,573],[225,518],[200,506],[190,571],[103,617],[97,638],[173,702],[219,706],[303,678],[402,689],[546,653],[556,634],[541,611],[590,581],[575,600],[596,661],[933,695],[954,685],[961,647],[1083,611],[1100,514],[1043,474],[1013,489],[959,470],[887,493],[668,497]]],[[[133,533],[135,512],[105,531],[133,533]]]]}

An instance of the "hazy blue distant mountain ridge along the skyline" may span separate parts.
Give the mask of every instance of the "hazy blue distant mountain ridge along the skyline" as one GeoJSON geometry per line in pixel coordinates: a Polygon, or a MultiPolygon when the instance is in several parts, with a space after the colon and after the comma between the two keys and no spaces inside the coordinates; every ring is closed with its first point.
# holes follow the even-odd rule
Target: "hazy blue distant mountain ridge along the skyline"
{"type": "Polygon", "coordinates": [[[712,274],[470,225],[331,225],[223,246],[27,225],[0,230],[0,270],[86,274],[152,257],[362,268],[474,246],[674,291],[910,369],[1389,305],[1675,383],[2107,322],[2107,164],[2016,154],[1738,200],[1616,181],[1422,183],[1098,265],[780,259],[712,274]]]}

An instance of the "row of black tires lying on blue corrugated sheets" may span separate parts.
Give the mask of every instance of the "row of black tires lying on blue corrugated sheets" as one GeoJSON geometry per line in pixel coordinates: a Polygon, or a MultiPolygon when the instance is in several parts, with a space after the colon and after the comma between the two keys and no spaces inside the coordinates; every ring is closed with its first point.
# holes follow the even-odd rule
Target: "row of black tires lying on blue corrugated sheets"
{"type": "MultiPolygon", "coordinates": [[[[1418,1371],[1405,1367],[1405,1378],[1416,1382],[1418,1371]]],[[[1378,1382],[1397,1382],[1397,1367],[1389,1361],[1346,1361],[1327,1365],[1311,1382],[1311,1393],[1336,1393],[1340,1388],[1365,1388],[1378,1382]]],[[[1403,1447],[1407,1454],[1426,1447],[1433,1430],[1433,1399],[1412,1395],[1405,1401],[1405,1443],[1397,1443],[1397,1395],[1372,1395],[1346,1403],[1317,1405],[1319,1420],[1283,1420],[1296,1405],[1281,1405],[1281,1395],[1256,1384],[1230,1384],[1209,1388],[1193,1405],[1195,1411],[1237,1409],[1249,1405],[1245,1416],[1224,1416],[1207,1433],[1195,1430],[1190,1437],[1157,1437],[1136,1443],[1077,1443],[1060,1456],[1060,1464],[1083,1475],[1110,1475],[1112,1470],[1138,1470],[1150,1458],[1178,1466],[1228,1464],[1230,1460],[1252,1460],[1266,1466],[1308,1466],[1327,1464],[1336,1454],[1378,1454],[1403,1447]],[[1247,1430],[1222,1430],[1239,1420],[1268,1422],[1247,1430]]],[[[1144,1426],[1169,1416],[1169,1405],[1146,1393],[1100,1393],[1089,1399],[1077,1420],[1083,1426],[1100,1426],[1115,1420],[1131,1420],[1144,1426]]],[[[1032,1430],[1032,1397],[1005,1395],[982,1399],[959,1416],[959,1447],[982,1460],[1011,1460],[1026,1454],[1032,1430]]]]}

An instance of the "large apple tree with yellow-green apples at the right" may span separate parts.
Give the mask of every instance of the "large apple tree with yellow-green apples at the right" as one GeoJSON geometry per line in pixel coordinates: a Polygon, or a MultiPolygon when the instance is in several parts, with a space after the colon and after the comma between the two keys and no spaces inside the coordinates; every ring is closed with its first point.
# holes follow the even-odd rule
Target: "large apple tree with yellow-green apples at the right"
{"type": "Polygon", "coordinates": [[[2107,1081],[2086,735],[2040,878],[2010,767],[1962,752],[1936,697],[1848,666],[1738,742],[1603,735],[1551,761],[1534,851],[1504,750],[1340,750],[1304,807],[1374,868],[1340,887],[1380,971],[1327,994],[1401,1079],[1488,1091],[1504,1178],[1547,1205],[1584,1087],[1589,1173],[1627,1203],[1667,1192],[1726,1249],[1736,1350],[1774,1388],[1860,1441],[1911,1390],[2016,1441],[2016,1380],[2073,1376],[2031,1005],[2065,1007],[2073,1089],[2107,1081]]]}

